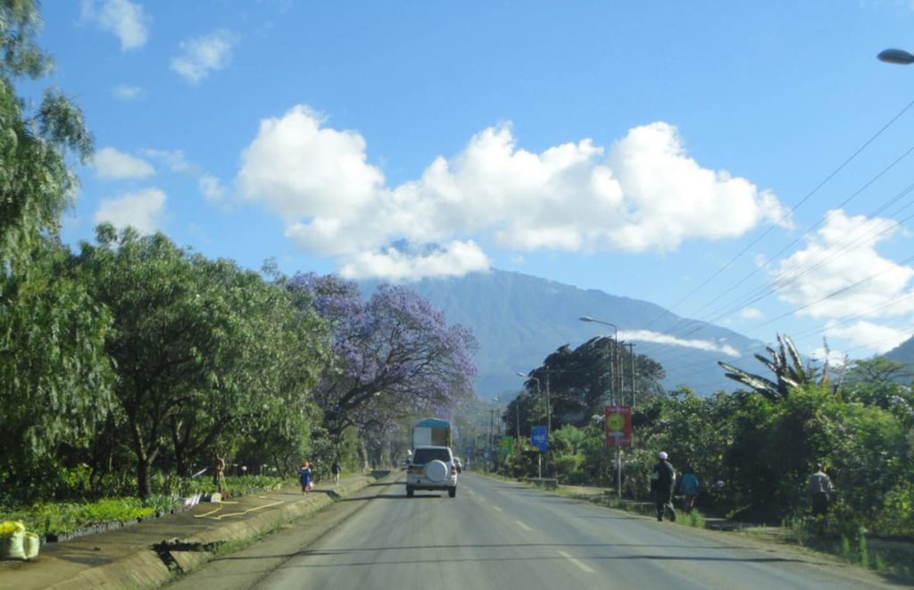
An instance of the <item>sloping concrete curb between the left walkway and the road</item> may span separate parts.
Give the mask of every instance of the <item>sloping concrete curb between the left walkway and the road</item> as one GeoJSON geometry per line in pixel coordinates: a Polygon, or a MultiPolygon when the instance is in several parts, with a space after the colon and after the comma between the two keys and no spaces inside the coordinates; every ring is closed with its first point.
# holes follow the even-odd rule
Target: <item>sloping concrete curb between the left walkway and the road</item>
{"type": "MultiPolygon", "coordinates": [[[[289,522],[297,521],[334,503],[334,498],[345,498],[369,483],[376,481],[371,477],[358,477],[347,482],[345,486],[327,493],[316,490],[301,500],[283,504],[276,510],[264,511],[233,522],[218,522],[205,532],[198,532],[185,539],[172,540],[175,551],[167,550],[167,555],[160,555],[153,547],[118,559],[112,564],[90,567],[69,580],[50,585],[51,590],[77,590],[80,588],[117,588],[137,590],[140,588],[158,588],[172,579],[174,570],[191,572],[206,564],[215,556],[218,547],[227,542],[239,544],[250,543],[268,532],[273,532],[289,522]],[[185,547],[199,547],[194,550],[179,550],[185,547]],[[169,559],[172,567],[165,564],[169,559]]],[[[167,540],[165,540],[167,542],[167,540]]]]}

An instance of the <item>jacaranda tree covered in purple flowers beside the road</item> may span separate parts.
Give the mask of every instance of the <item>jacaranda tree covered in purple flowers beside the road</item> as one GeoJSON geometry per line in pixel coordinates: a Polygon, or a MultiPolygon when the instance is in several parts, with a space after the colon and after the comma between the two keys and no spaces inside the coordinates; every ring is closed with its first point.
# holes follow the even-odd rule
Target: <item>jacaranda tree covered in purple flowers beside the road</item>
{"type": "Polygon", "coordinates": [[[331,435],[377,431],[416,414],[450,416],[471,397],[475,337],[449,326],[414,290],[381,285],[366,299],[356,282],[314,273],[289,284],[311,295],[330,330],[335,360],[314,400],[331,435]]]}

